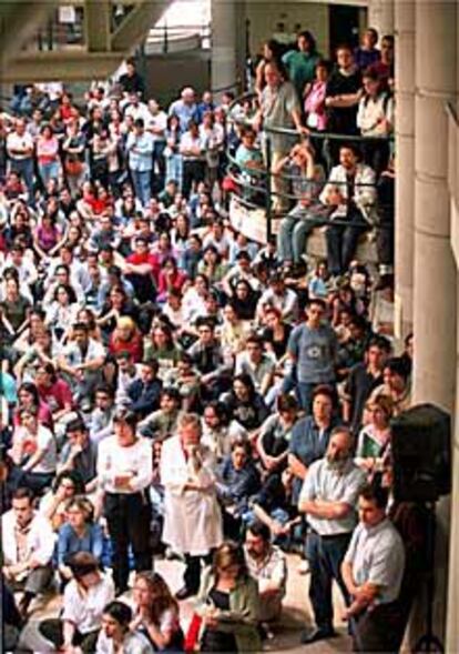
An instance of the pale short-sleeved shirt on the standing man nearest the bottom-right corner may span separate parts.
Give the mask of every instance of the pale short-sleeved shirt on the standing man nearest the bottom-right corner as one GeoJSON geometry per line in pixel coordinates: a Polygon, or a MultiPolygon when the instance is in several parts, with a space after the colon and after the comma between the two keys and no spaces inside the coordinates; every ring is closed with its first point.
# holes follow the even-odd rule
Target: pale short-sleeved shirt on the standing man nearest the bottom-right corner
{"type": "Polygon", "coordinates": [[[405,570],[405,549],[392,523],[385,519],[373,527],[359,523],[346,552],[353,576],[359,586],[367,582],[380,587],[378,604],[394,602],[400,592],[405,570]]]}

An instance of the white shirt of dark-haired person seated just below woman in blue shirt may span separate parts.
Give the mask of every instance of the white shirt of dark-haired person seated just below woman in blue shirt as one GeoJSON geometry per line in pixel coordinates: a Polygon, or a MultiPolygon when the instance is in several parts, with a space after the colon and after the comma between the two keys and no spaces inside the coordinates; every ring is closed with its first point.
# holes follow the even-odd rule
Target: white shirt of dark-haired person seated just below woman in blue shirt
{"type": "Polygon", "coordinates": [[[75,580],[64,590],[61,620],[72,622],[78,631],[88,634],[101,627],[102,613],[106,604],[114,600],[114,583],[111,576],[101,575],[101,581],[83,595],[75,580]]]}

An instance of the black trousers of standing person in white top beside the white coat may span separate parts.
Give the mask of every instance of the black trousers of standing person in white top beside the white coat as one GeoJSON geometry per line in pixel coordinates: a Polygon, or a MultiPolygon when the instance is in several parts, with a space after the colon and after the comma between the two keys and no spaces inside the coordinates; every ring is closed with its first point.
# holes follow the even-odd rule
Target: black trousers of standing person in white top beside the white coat
{"type": "Polygon", "coordinates": [[[118,591],[128,588],[129,546],[134,554],[136,572],[151,570],[151,506],[147,491],[140,493],[106,493],[104,514],[113,551],[113,578],[118,591]]]}

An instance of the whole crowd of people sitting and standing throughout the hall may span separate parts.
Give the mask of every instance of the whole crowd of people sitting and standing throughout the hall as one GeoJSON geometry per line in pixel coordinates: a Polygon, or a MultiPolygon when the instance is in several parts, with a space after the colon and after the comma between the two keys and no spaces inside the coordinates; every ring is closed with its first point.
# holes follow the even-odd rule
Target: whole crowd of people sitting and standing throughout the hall
{"type": "Polygon", "coordinates": [[[390,148],[319,138],[392,129],[392,39],[376,41],[338,48],[333,72],[308,32],[284,59],[269,42],[244,125],[231,94],[186,88],[163,110],[133,61],[84,104],[17,89],[0,124],[7,650],[51,586],[50,651],[261,651],[289,553],[310,573],[303,643],[334,635],[336,580],[355,650],[400,646],[422,570],[420,509],[388,503],[412,335],[395,351],[354,259],[390,148]],[[251,187],[232,188],[227,151],[249,180],[266,128],[289,122],[302,142],[273,137],[274,189],[292,168],[296,200],[256,243],[227,213],[251,187]],[[304,259],[310,217],[330,223],[328,265],[304,259]],[[163,555],[184,565],[175,595],[163,555]]]}

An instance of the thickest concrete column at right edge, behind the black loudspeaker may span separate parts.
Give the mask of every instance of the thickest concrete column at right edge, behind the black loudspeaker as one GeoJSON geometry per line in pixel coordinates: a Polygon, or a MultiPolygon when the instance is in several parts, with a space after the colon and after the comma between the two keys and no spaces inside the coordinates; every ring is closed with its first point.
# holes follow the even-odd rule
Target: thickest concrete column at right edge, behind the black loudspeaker
{"type": "MultiPolygon", "coordinates": [[[[416,0],[414,401],[432,402],[452,414],[457,274],[450,243],[446,103],[457,92],[456,10],[449,0],[416,0]]],[[[442,638],[449,523],[449,502],[443,499],[437,510],[434,606],[436,631],[442,638]]]]}

